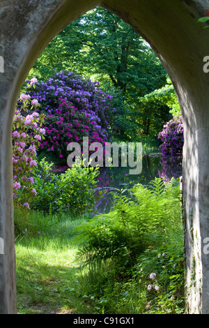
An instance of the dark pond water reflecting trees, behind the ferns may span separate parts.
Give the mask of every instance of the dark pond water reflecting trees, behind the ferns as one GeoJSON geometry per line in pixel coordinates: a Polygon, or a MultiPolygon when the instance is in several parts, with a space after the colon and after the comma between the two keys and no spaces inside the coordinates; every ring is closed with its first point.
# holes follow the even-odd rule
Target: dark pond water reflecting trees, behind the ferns
{"type": "MultiPolygon", "coordinates": [[[[162,158],[160,154],[143,156],[141,174],[129,174],[129,167],[104,167],[100,168],[98,176],[98,187],[96,188],[96,197],[98,192],[103,191],[104,196],[96,200],[94,213],[107,213],[113,204],[112,192],[118,192],[117,189],[130,189],[135,184],[148,186],[155,177],[163,179],[177,179],[182,175],[182,158],[176,157],[162,158]]],[[[125,193],[127,194],[127,193],[125,193]]]]}

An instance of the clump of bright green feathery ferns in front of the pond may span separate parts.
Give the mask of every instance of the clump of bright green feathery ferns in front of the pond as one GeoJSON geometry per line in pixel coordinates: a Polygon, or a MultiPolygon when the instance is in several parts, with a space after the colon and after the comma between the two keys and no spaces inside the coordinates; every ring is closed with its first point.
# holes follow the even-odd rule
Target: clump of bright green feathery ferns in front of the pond
{"type": "Polygon", "coordinates": [[[132,188],[132,200],[121,191],[114,196],[109,214],[96,216],[79,227],[79,262],[94,265],[111,260],[117,270],[120,267],[123,271],[148,246],[166,238],[168,225],[180,218],[180,191],[172,181],[164,185],[162,179],[155,179],[150,185],[132,188]]]}

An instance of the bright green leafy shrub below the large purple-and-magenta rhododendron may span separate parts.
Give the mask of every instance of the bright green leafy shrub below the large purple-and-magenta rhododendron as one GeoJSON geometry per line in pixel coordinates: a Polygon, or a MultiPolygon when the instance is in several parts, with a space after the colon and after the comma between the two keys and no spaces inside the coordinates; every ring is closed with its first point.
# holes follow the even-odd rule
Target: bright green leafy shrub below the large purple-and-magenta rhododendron
{"type": "Polygon", "coordinates": [[[98,167],[74,165],[58,175],[52,172],[52,165],[45,158],[38,163],[34,177],[37,195],[31,207],[47,213],[70,211],[72,214],[82,214],[91,211],[95,204],[93,187],[99,174],[98,167]]]}

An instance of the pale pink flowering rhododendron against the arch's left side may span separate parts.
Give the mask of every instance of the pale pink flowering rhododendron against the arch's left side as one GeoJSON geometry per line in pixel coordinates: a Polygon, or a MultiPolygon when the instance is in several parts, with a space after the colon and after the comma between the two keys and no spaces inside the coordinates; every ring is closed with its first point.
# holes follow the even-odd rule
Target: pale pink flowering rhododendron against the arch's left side
{"type": "MultiPolygon", "coordinates": [[[[36,79],[31,79],[28,88],[34,87],[36,79]]],[[[29,207],[36,195],[33,188],[33,172],[36,167],[36,150],[43,140],[44,114],[38,114],[38,100],[31,100],[29,94],[21,94],[18,108],[13,117],[13,190],[17,207],[29,207]]]]}

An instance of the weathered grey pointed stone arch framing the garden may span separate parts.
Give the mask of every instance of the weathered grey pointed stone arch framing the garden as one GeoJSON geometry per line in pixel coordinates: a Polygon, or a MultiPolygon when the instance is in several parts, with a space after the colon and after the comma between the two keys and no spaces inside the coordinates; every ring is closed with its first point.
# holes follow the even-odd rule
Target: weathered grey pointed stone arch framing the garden
{"type": "Polygon", "coordinates": [[[27,73],[47,43],[67,24],[95,6],[120,16],[150,43],[167,69],[183,119],[183,213],[187,308],[209,313],[209,80],[203,58],[208,29],[198,24],[209,8],[200,0],[2,0],[0,73],[0,313],[16,313],[11,129],[13,107],[27,73]],[[205,246],[205,247],[204,247],[205,246]]]}

